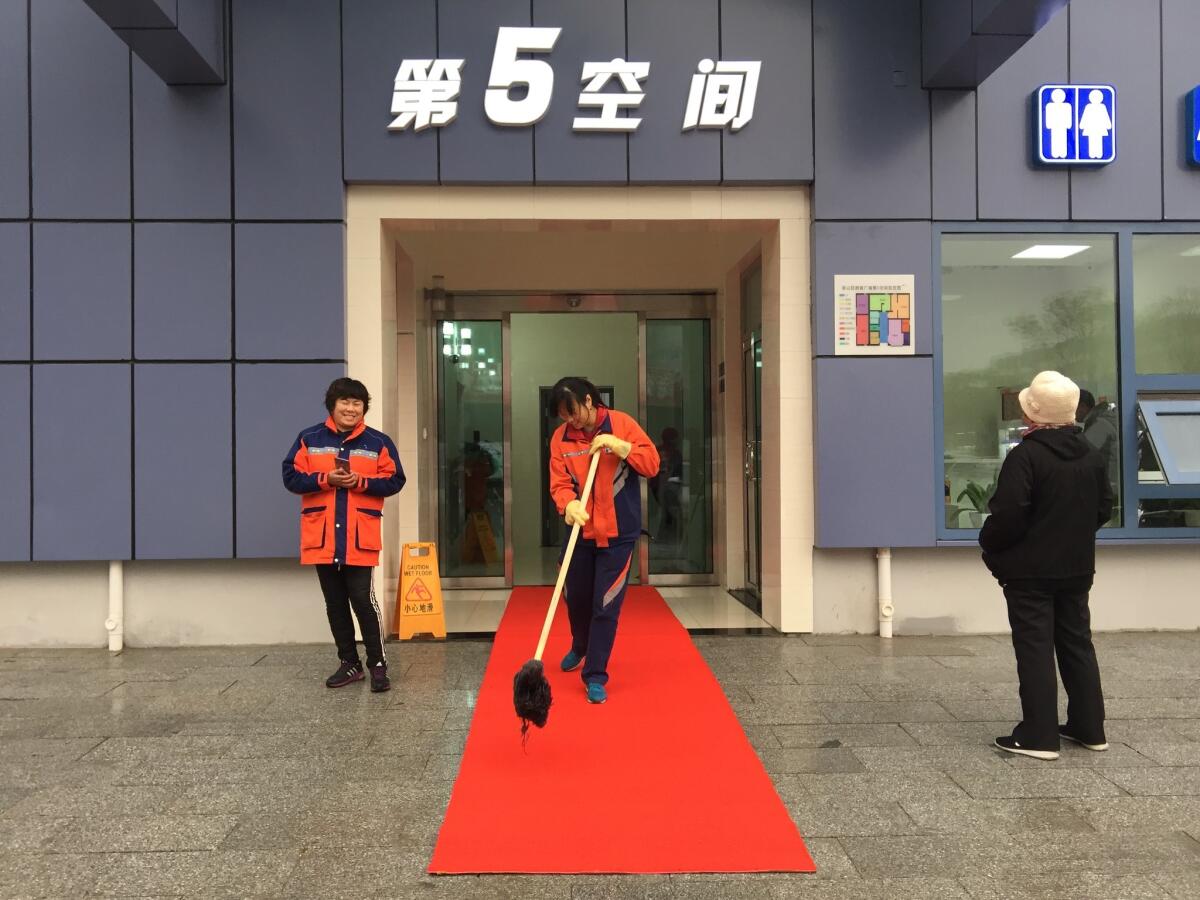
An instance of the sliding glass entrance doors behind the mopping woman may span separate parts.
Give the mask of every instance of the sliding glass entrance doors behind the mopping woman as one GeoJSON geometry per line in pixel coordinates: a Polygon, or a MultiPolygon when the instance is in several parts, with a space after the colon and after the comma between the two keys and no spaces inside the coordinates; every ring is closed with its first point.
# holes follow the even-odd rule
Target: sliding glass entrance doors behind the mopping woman
{"type": "Polygon", "coordinates": [[[710,294],[433,301],[437,533],[450,587],[552,584],[566,534],[547,499],[551,385],[582,376],[659,448],[631,578],[715,583],[710,294]]]}

